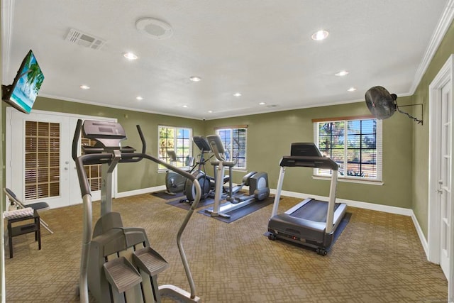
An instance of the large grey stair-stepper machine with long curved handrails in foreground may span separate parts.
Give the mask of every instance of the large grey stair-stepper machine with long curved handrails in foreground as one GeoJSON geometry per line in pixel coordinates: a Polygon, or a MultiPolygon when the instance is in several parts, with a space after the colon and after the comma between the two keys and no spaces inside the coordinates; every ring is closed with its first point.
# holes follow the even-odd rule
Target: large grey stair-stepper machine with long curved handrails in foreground
{"type": "Polygon", "coordinates": [[[199,182],[191,174],[179,170],[145,153],[146,143],[140,126],[137,126],[142,153],[131,147],[122,148],[126,133],[119,123],[106,121],[77,121],[72,141],[72,158],[76,163],[80,190],[84,204],[82,254],[79,275],[81,302],[89,302],[90,291],[96,302],[160,302],[161,295],[176,297],[183,302],[199,302],[194,280],[182,246],[182,233],[200,200],[199,182]],[[96,141],[94,147],[84,147],[84,155],[77,156],[79,136],[96,141]],[[152,160],[183,175],[194,182],[196,197],[184,217],[177,233],[177,246],[191,292],[175,285],[157,285],[157,275],[169,265],[150,247],[143,228],[123,227],[121,215],[112,211],[112,172],[122,162],[152,160]],[[92,233],[92,195],[84,165],[102,165],[101,217],[92,233]]]}

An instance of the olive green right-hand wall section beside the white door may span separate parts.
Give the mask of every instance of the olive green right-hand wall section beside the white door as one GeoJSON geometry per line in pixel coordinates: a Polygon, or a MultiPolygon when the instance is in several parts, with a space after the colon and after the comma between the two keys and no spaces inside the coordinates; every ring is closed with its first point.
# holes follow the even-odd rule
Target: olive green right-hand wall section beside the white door
{"type": "Polygon", "coordinates": [[[428,86],[436,77],[448,57],[454,53],[454,23],[450,25],[441,45],[423,75],[413,95],[414,104],[423,104],[424,125],[413,127],[413,177],[412,204],[419,226],[427,238],[428,231],[428,143],[429,143],[429,105],[428,86]]]}

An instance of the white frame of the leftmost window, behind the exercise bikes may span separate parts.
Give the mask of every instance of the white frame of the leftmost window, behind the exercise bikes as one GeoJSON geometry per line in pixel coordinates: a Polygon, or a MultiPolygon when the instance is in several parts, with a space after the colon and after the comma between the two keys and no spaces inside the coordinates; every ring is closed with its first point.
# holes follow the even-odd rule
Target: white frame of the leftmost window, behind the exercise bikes
{"type": "MultiPolygon", "coordinates": [[[[164,161],[164,162],[167,162],[171,165],[175,165],[175,167],[179,167],[179,168],[184,168],[184,167],[188,167],[189,165],[187,165],[187,161],[186,161],[186,158],[187,157],[192,157],[192,128],[189,128],[189,127],[185,127],[185,126],[166,126],[166,125],[158,125],[157,126],[157,157],[164,161]],[[162,128],[169,128],[169,129],[172,129],[174,131],[174,138],[172,138],[173,140],[173,148],[169,148],[168,146],[166,147],[163,147],[161,146],[161,129],[162,128]],[[187,131],[189,133],[189,137],[188,138],[178,138],[178,132],[179,131],[187,131]],[[179,147],[179,140],[182,140],[183,142],[183,146],[182,147],[179,147]],[[187,146],[184,145],[184,142],[187,142],[187,146]],[[170,158],[168,157],[168,153],[165,153],[165,157],[162,157],[162,153],[161,153],[161,149],[164,148],[165,150],[175,150],[175,153],[177,153],[177,149],[179,148],[182,148],[183,150],[184,149],[187,149],[188,150],[188,153],[183,153],[182,155],[178,155],[177,153],[177,162],[173,162],[173,161],[170,161],[170,158]]],[[[169,138],[166,138],[166,139],[169,139],[169,138]]],[[[167,167],[164,167],[162,165],[157,165],[157,172],[166,172],[168,169],[167,167]]]]}

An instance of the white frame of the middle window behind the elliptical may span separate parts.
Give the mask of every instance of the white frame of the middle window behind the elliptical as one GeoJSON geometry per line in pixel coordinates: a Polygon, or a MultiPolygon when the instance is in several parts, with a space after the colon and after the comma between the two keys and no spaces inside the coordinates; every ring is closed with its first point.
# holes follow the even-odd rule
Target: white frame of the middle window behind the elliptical
{"type": "Polygon", "coordinates": [[[233,166],[232,168],[234,170],[247,170],[248,167],[248,126],[226,126],[226,127],[219,127],[219,128],[214,128],[214,131],[216,135],[221,136],[221,132],[230,132],[230,140],[228,142],[228,145],[226,145],[226,139],[221,136],[221,141],[224,145],[224,149],[228,150],[228,161],[232,161],[233,155],[237,155],[238,153],[238,163],[237,165],[233,166]],[[239,131],[243,130],[244,131],[244,136],[239,136],[239,131]],[[233,140],[233,133],[234,131],[238,131],[238,136],[237,139],[239,141],[239,147],[238,144],[234,143],[233,140]],[[244,137],[244,146],[242,146],[242,139],[241,137],[244,137]],[[233,146],[233,151],[232,147],[233,146]],[[239,151],[238,151],[239,150],[239,151]],[[241,164],[241,165],[238,165],[241,164]]]}

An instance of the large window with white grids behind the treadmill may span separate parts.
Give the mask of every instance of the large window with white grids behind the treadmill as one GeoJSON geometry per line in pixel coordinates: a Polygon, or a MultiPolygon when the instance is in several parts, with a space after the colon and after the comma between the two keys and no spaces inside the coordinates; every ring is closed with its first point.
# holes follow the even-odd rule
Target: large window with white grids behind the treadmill
{"type": "MultiPolygon", "coordinates": [[[[339,177],[382,181],[382,121],[333,119],[314,121],[314,134],[321,153],[339,165],[339,177]]],[[[314,170],[331,176],[331,170],[314,170]]]]}

